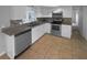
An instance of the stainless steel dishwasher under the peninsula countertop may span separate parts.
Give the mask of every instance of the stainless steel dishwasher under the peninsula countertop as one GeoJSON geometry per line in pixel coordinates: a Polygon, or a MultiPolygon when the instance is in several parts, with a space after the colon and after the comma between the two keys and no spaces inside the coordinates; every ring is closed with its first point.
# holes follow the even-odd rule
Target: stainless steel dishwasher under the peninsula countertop
{"type": "Polygon", "coordinates": [[[31,30],[23,31],[15,35],[14,56],[31,45],[31,30]]]}

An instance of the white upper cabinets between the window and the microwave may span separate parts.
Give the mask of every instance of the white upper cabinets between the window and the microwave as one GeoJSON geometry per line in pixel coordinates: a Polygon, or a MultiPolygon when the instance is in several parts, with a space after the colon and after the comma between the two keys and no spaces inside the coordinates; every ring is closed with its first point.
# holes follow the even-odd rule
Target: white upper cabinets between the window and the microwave
{"type": "Polygon", "coordinates": [[[37,6],[35,8],[36,18],[52,18],[52,12],[56,9],[55,7],[42,7],[37,6]]]}

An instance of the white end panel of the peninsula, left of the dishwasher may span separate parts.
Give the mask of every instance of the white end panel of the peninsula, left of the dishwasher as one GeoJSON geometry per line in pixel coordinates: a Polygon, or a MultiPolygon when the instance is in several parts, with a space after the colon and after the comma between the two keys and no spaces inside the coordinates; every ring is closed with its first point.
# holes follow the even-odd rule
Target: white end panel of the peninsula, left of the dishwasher
{"type": "Polygon", "coordinates": [[[6,34],[6,53],[10,58],[14,58],[14,35],[10,36],[6,34]]]}

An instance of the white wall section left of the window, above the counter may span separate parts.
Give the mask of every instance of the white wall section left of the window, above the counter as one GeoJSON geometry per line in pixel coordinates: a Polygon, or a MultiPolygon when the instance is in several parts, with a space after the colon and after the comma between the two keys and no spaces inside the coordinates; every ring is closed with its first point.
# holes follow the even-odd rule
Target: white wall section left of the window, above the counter
{"type": "Polygon", "coordinates": [[[12,6],[11,7],[11,19],[19,20],[25,19],[26,14],[26,6],[12,6]]]}

